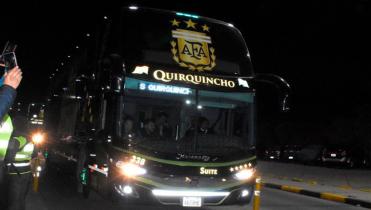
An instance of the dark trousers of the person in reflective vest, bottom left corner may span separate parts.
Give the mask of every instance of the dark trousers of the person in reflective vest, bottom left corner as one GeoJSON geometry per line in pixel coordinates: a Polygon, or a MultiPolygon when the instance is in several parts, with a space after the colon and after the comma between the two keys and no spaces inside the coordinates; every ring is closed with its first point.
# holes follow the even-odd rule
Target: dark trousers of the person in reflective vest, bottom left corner
{"type": "Polygon", "coordinates": [[[26,196],[30,188],[32,174],[6,174],[1,184],[0,209],[25,210],[26,196]]]}

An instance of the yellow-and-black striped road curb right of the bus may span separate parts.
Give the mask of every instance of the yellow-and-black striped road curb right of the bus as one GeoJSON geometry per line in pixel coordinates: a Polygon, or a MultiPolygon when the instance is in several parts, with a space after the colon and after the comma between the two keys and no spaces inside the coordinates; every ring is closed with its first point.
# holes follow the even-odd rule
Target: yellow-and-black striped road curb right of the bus
{"type": "Polygon", "coordinates": [[[333,194],[333,193],[328,193],[328,192],[315,192],[315,191],[305,190],[305,189],[295,187],[295,186],[279,185],[279,184],[273,184],[273,183],[263,183],[263,186],[267,188],[283,190],[286,192],[292,192],[292,193],[302,194],[302,195],[320,198],[324,200],[346,203],[346,204],[350,204],[354,206],[362,206],[362,207],[371,209],[371,201],[358,200],[358,199],[346,197],[343,195],[338,195],[338,194],[333,194]]]}

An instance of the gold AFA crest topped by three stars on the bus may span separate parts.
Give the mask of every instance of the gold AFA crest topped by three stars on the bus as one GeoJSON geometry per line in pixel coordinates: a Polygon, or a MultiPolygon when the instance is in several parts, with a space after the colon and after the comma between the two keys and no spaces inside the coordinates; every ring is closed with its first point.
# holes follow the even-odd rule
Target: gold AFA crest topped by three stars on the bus
{"type": "Polygon", "coordinates": [[[192,20],[181,22],[174,19],[170,22],[174,27],[170,42],[174,61],[192,71],[211,71],[216,66],[216,56],[211,37],[207,34],[209,26],[198,26],[192,20]],[[196,31],[197,28],[202,28],[202,31],[196,31]]]}

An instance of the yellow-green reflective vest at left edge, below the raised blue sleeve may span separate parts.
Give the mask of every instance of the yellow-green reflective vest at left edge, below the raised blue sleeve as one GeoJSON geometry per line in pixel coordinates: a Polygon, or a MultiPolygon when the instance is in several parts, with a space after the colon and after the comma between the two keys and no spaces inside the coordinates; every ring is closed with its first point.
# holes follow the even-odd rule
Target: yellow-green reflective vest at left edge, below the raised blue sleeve
{"type": "Polygon", "coordinates": [[[10,137],[13,133],[13,123],[9,115],[6,115],[0,124],[0,161],[3,161],[6,155],[10,137]]]}

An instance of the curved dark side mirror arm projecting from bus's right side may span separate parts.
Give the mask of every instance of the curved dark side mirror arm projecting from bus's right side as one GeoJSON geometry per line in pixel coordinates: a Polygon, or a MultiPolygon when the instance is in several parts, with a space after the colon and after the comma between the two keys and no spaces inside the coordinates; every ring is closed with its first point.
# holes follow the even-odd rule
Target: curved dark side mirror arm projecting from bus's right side
{"type": "Polygon", "coordinates": [[[291,97],[291,87],[286,80],[282,77],[274,74],[255,74],[252,77],[252,81],[255,82],[264,82],[267,84],[274,85],[280,92],[280,108],[281,111],[287,112],[290,110],[290,97],[291,97]]]}

